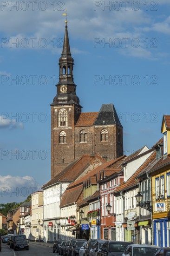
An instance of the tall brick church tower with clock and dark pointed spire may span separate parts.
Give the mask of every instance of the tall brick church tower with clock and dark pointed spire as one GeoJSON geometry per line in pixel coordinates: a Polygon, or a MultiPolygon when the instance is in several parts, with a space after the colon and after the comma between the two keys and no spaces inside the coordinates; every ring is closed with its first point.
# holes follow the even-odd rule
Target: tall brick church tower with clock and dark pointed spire
{"type": "Polygon", "coordinates": [[[81,113],[73,80],[74,60],[70,52],[67,20],[63,51],[59,58],[57,95],[51,105],[51,177],[53,178],[75,159],[74,125],[81,113]]]}

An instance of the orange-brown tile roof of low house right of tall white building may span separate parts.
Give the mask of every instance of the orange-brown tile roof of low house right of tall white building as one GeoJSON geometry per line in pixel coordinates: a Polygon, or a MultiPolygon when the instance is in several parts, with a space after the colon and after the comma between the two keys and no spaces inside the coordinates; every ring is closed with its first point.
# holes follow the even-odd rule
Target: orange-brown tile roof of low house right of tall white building
{"type": "Polygon", "coordinates": [[[76,188],[66,190],[62,197],[60,207],[65,207],[74,202],[77,202],[78,197],[81,195],[82,191],[83,191],[82,185],[80,185],[76,188]]]}

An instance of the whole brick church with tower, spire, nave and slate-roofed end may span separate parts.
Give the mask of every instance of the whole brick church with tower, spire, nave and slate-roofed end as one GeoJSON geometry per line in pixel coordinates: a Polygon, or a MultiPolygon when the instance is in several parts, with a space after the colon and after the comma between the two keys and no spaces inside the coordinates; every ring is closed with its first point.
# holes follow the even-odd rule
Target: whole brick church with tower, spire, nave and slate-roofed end
{"type": "Polygon", "coordinates": [[[65,23],[57,95],[51,104],[51,178],[82,155],[105,160],[123,155],[123,127],[113,104],[103,104],[99,112],[81,112],[65,23]]]}

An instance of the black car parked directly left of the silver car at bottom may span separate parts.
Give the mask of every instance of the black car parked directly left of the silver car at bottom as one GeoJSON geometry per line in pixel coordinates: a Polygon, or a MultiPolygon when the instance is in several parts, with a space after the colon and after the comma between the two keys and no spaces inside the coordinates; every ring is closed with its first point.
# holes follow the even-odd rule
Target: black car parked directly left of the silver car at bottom
{"type": "Polygon", "coordinates": [[[97,252],[97,256],[122,256],[124,250],[131,242],[108,241],[97,252]]]}

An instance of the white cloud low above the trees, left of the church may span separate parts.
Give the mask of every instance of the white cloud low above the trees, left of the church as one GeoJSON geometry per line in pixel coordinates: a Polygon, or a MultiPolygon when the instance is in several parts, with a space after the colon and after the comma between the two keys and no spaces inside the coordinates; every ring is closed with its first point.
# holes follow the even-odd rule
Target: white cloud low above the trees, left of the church
{"type": "Polygon", "coordinates": [[[0,175],[0,201],[23,202],[31,193],[39,190],[40,186],[31,176],[2,176],[0,175]]]}

